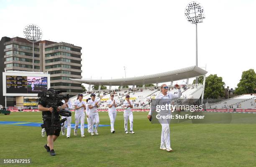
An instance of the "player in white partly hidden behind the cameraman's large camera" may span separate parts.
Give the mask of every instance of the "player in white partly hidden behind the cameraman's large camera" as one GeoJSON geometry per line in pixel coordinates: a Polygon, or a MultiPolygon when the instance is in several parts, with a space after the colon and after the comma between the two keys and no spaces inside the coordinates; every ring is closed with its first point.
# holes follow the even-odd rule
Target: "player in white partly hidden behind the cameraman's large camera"
{"type": "MultiPolygon", "coordinates": [[[[64,99],[61,102],[63,102],[66,105],[65,110],[71,110],[72,109],[72,103],[70,102],[69,99],[64,99]]],[[[61,134],[65,135],[65,127],[67,126],[67,138],[69,138],[70,137],[70,132],[71,132],[72,117],[64,117],[64,116],[61,116],[61,117],[62,117],[62,119],[67,118],[67,121],[65,121],[64,126],[61,127],[61,134]]]]}

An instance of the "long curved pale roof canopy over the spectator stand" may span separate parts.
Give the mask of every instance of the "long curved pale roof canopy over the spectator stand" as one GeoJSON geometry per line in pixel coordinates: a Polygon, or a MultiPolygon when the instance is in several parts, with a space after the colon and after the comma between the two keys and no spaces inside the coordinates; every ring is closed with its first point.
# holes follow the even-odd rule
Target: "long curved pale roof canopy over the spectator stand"
{"type": "Polygon", "coordinates": [[[207,71],[201,69],[197,66],[191,66],[186,68],[181,68],[178,70],[162,72],[152,75],[144,75],[139,77],[128,77],[128,78],[118,78],[118,79],[71,79],[77,82],[82,82],[91,85],[144,85],[144,84],[155,84],[163,82],[171,82],[177,80],[183,80],[187,78],[197,77],[200,75],[205,75],[207,71]]]}

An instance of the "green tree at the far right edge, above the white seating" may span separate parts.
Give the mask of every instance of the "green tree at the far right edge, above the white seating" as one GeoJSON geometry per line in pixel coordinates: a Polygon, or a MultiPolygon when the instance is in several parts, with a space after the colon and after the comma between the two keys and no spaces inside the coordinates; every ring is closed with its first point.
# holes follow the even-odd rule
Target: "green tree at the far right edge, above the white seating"
{"type": "Polygon", "coordinates": [[[237,84],[235,94],[253,93],[256,88],[256,74],[253,69],[243,71],[240,82],[237,84]]]}

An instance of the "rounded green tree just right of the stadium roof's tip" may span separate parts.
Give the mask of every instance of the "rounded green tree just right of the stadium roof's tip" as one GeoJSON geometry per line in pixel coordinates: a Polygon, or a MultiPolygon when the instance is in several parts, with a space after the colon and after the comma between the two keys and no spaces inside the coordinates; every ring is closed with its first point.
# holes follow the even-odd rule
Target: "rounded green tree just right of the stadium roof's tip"
{"type": "Polygon", "coordinates": [[[218,77],[217,74],[209,75],[205,79],[205,98],[218,98],[224,97],[225,82],[222,81],[222,77],[218,77]]]}

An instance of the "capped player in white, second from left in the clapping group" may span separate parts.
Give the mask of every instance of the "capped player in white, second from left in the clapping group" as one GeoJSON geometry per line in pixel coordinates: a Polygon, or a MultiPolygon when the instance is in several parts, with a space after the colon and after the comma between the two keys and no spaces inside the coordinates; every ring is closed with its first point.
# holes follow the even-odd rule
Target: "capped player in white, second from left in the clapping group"
{"type": "Polygon", "coordinates": [[[84,110],[85,108],[85,102],[82,101],[83,99],[83,94],[78,94],[77,95],[77,100],[74,102],[74,107],[75,107],[75,128],[74,128],[74,136],[77,136],[77,129],[79,122],[80,124],[80,130],[81,130],[81,137],[85,137],[84,135],[84,119],[85,119],[85,114],[84,110]]]}

